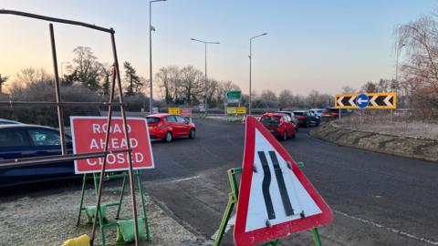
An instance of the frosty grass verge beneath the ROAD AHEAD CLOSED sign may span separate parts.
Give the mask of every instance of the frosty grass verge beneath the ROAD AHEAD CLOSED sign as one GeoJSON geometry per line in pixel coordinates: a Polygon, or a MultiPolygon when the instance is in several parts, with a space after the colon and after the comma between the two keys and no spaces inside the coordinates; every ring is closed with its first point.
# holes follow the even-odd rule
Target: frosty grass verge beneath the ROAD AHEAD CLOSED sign
{"type": "MultiPolygon", "coordinates": [[[[105,190],[103,202],[118,200],[120,189],[105,190]]],[[[86,202],[94,205],[94,190],[87,190],[86,202]]],[[[130,195],[124,197],[121,219],[131,219],[130,195]]],[[[92,225],[87,224],[83,213],[77,227],[79,191],[63,192],[39,198],[23,198],[0,203],[0,245],[62,245],[63,241],[91,234],[92,225]]],[[[140,199],[137,197],[137,199],[140,199]]],[[[160,207],[147,200],[147,213],[151,230],[151,242],[147,245],[204,245],[190,231],[167,215],[160,207]]],[[[139,200],[140,201],[140,200],[139,200]]],[[[138,201],[138,204],[141,204],[138,201]]],[[[107,216],[113,220],[116,207],[109,208],[107,216]]],[[[141,207],[138,209],[141,213],[141,207]]],[[[96,245],[101,244],[98,227],[96,245]]],[[[116,245],[116,229],[106,230],[107,245],[116,245]]],[[[128,244],[133,245],[133,243],[128,244]]]]}

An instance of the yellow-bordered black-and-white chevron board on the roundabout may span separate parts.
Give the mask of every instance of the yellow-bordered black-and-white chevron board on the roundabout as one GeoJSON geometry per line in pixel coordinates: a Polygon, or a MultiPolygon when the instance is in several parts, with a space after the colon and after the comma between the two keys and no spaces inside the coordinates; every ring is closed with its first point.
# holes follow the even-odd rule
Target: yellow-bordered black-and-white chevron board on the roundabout
{"type": "MultiPolygon", "coordinates": [[[[395,92],[363,93],[363,94],[368,97],[368,106],[366,108],[369,109],[397,108],[397,94],[395,92]]],[[[359,108],[356,101],[359,95],[360,93],[335,95],[335,108],[359,108]]]]}

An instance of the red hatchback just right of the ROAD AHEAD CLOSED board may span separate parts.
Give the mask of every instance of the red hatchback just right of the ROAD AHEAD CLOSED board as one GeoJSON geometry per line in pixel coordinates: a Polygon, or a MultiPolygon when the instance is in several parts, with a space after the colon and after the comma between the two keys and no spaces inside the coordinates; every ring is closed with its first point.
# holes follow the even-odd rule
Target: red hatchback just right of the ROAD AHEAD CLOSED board
{"type": "Polygon", "coordinates": [[[193,122],[180,116],[154,114],[147,116],[146,119],[148,120],[149,136],[151,138],[159,138],[165,142],[170,142],[173,138],[194,138],[196,135],[193,122]]]}

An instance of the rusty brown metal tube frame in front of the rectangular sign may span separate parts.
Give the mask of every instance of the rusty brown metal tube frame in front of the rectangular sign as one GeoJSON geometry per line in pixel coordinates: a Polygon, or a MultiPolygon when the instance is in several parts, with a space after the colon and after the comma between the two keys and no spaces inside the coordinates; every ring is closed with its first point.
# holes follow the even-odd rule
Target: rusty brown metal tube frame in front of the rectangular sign
{"type": "MultiPolygon", "coordinates": [[[[31,13],[26,12],[20,12],[15,10],[6,10],[6,9],[0,9],[0,15],[19,15],[34,19],[40,19],[40,20],[46,20],[49,22],[55,22],[55,23],[62,23],[62,24],[68,24],[73,26],[84,26],[88,27],[94,30],[98,30],[104,33],[110,34],[110,42],[112,47],[112,55],[114,59],[114,69],[113,69],[113,75],[112,75],[112,81],[111,81],[111,88],[110,88],[110,100],[108,103],[94,103],[96,105],[105,105],[108,106],[108,119],[107,124],[108,126],[111,126],[111,118],[112,118],[112,110],[113,107],[120,107],[120,114],[121,118],[123,119],[123,131],[124,131],[124,137],[127,143],[126,149],[120,149],[118,152],[128,152],[128,159],[129,159],[129,179],[130,179],[130,194],[131,194],[131,203],[132,203],[132,217],[134,220],[134,237],[135,237],[135,245],[138,246],[140,244],[139,239],[139,227],[138,227],[138,221],[137,221],[137,206],[136,206],[136,200],[135,200],[135,186],[134,186],[134,173],[132,170],[132,158],[130,156],[130,136],[128,132],[128,124],[126,119],[126,113],[125,113],[125,104],[123,103],[123,93],[122,93],[122,87],[121,87],[121,80],[120,80],[120,69],[119,69],[119,59],[117,56],[117,48],[116,48],[116,42],[115,42],[115,31],[113,28],[105,28],[101,26],[91,25],[83,22],[68,20],[68,19],[61,19],[61,18],[55,18],[55,17],[49,17],[45,15],[35,15],[31,13]],[[116,90],[116,84],[117,89],[119,90],[119,102],[114,102],[114,94],[116,90]]],[[[61,155],[57,156],[51,156],[51,157],[45,157],[45,158],[26,158],[26,159],[13,159],[13,160],[3,160],[0,161],[0,169],[4,168],[11,168],[11,167],[23,167],[25,165],[33,165],[33,164],[51,164],[55,162],[62,162],[66,160],[75,160],[75,159],[89,159],[89,158],[97,158],[97,157],[103,157],[104,161],[102,164],[102,169],[100,171],[99,176],[99,189],[98,189],[98,196],[97,196],[97,205],[96,205],[96,213],[94,218],[99,218],[99,208],[100,208],[100,200],[102,195],[102,184],[103,184],[103,178],[105,174],[105,168],[107,165],[107,155],[110,153],[114,153],[116,151],[109,149],[109,140],[110,140],[110,131],[107,131],[105,136],[105,148],[103,151],[95,152],[95,153],[84,153],[84,154],[67,154],[66,153],[66,144],[65,144],[65,135],[64,135],[64,122],[63,122],[63,106],[66,105],[82,105],[87,104],[90,105],[89,102],[87,103],[79,103],[79,102],[61,102],[61,96],[60,96],[60,86],[59,86],[59,77],[57,72],[57,51],[56,51],[56,43],[55,43],[55,34],[54,34],[54,28],[53,24],[49,23],[49,33],[50,33],[50,44],[52,49],[52,58],[53,58],[53,68],[54,68],[54,76],[55,76],[55,90],[56,90],[56,102],[0,102],[0,105],[7,105],[7,106],[13,106],[13,105],[39,105],[39,106],[56,106],[57,107],[57,118],[58,118],[58,127],[59,127],[59,135],[61,139],[61,155]]],[[[139,184],[140,185],[140,184],[139,184]]],[[[93,222],[93,228],[91,233],[91,241],[90,245],[94,245],[95,237],[96,237],[96,226],[97,221],[94,220],[93,222]]]]}

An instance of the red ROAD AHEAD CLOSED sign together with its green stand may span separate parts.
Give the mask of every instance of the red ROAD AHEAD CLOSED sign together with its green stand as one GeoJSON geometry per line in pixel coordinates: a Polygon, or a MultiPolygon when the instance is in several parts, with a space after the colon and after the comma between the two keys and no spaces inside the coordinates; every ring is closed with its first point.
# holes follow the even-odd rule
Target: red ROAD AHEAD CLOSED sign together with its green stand
{"type": "MultiPolygon", "coordinates": [[[[149,138],[148,124],[145,118],[126,118],[127,130],[130,134],[130,152],[119,152],[120,149],[126,149],[127,142],[124,138],[125,132],[123,128],[123,118],[111,118],[110,126],[107,125],[107,118],[105,117],[71,117],[70,126],[73,138],[73,151],[75,154],[101,152],[105,149],[105,140],[108,134],[108,150],[109,154],[104,158],[92,158],[92,159],[78,159],[75,160],[75,173],[84,174],[81,190],[81,198],[78,211],[78,222],[80,222],[80,216],[83,210],[86,211],[89,217],[89,221],[94,220],[94,224],[99,220],[100,232],[102,236],[102,245],[105,245],[105,229],[109,227],[117,227],[118,231],[132,232],[132,228],[128,229],[124,225],[130,223],[129,220],[120,219],[120,209],[123,200],[124,190],[126,188],[127,177],[129,177],[127,170],[129,169],[130,159],[132,161],[132,169],[134,171],[134,177],[137,178],[139,191],[141,195],[141,207],[143,211],[143,217],[138,220],[138,223],[143,225],[145,229],[145,235],[143,230],[138,232],[141,234],[141,238],[150,240],[149,225],[146,216],[146,203],[144,200],[144,192],[141,184],[140,169],[153,169],[154,162],[151,151],[151,140],[149,138]],[[128,156],[130,155],[130,157],[128,156]],[[98,174],[102,171],[103,163],[106,163],[104,169],[105,176],[98,174]],[[121,173],[120,173],[121,171],[121,173]],[[118,174],[114,174],[118,172],[118,174]],[[120,193],[120,200],[116,202],[110,202],[107,204],[99,204],[97,206],[85,206],[85,190],[88,179],[94,180],[94,187],[99,189],[98,183],[103,179],[120,179],[123,178],[122,188],[120,193]],[[111,206],[117,206],[116,222],[105,223],[106,208],[111,206]],[[98,215],[95,213],[99,210],[98,215]]],[[[137,218],[135,218],[137,220],[137,218]]],[[[137,227],[134,227],[137,230],[137,227]]],[[[141,226],[142,228],[142,226],[141,226]]],[[[135,232],[137,233],[137,232],[135,232]]],[[[131,241],[130,236],[125,237],[118,236],[118,242],[131,241]]]]}

